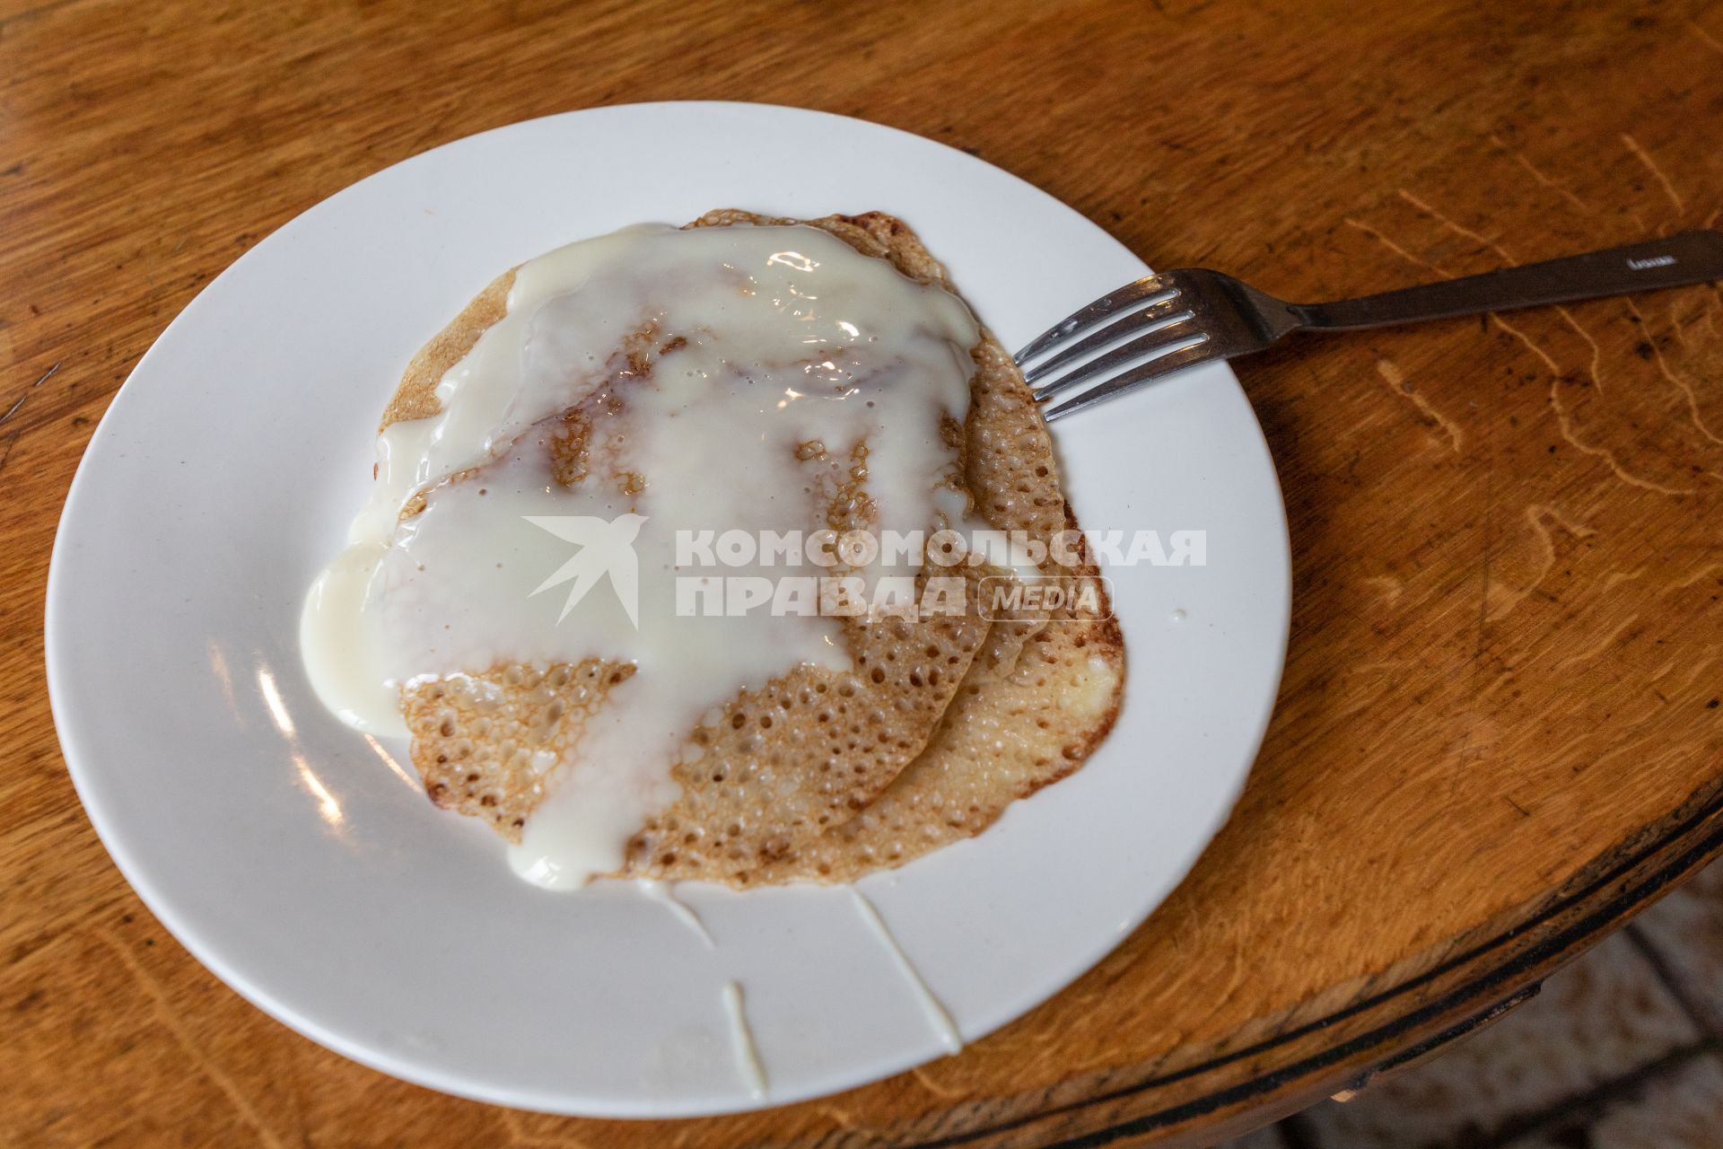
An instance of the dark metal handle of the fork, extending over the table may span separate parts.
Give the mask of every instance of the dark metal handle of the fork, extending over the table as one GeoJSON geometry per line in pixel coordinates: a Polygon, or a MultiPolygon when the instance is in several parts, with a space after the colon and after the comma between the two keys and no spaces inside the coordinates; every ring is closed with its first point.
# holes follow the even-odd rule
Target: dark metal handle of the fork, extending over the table
{"type": "Polygon", "coordinates": [[[1337,303],[1287,305],[1301,327],[1356,331],[1423,319],[1506,312],[1540,303],[1594,300],[1656,288],[1723,279],[1723,233],[1683,231],[1668,239],[1630,243],[1542,264],[1444,279],[1337,303]]]}

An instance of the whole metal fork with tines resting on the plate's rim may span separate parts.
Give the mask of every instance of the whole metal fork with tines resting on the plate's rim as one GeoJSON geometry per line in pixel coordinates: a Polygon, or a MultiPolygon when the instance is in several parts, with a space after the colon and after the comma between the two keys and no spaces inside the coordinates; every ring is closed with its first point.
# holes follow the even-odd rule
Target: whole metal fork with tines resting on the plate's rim
{"type": "Polygon", "coordinates": [[[1253,355],[1294,331],[1387,327],[1713,279],[1723,279],[1723,234],[1716,231],[1337,303],[1284,303],[1232,276],[1187,267],[1103,295],[1018,351],[1017,363],[1051,422],[1175,370],[1253,355]],[[1065,398],[1048,403],[1054,396],[1065,398]]]}

